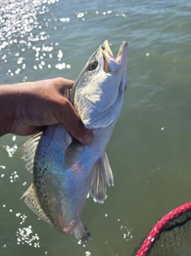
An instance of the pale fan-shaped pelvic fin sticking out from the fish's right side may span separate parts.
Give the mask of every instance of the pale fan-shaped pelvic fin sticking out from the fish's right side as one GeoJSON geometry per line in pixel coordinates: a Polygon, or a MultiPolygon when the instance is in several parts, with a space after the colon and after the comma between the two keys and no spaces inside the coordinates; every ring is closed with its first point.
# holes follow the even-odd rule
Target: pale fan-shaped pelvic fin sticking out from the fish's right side
{"type": "Polygon", "coordinates": [[[110,163],[107,154],[99,159],[94,165],[93,180],[90,183],[89,194],[98,203],[104,203],[107,192],[107,185],[113,186],[113,173],[110,168],[110,163]]]}

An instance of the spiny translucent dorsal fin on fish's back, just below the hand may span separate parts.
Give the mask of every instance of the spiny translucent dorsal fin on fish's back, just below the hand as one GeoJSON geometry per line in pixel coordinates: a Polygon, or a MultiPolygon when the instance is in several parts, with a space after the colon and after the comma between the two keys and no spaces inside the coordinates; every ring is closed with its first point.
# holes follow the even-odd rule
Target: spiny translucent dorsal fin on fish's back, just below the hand
{"type": "Polygon", "coordinates": [[[41,139],[41,134],[42,132],[39,132],[33,137],[30,137],[30,139],[24,142],[24,144],[19,149],[19,154],[21,154],[21,158],[25,162],[25,168],[27,171],[33,172],[34,157],[36,154],[38,142],[41,139]]]}

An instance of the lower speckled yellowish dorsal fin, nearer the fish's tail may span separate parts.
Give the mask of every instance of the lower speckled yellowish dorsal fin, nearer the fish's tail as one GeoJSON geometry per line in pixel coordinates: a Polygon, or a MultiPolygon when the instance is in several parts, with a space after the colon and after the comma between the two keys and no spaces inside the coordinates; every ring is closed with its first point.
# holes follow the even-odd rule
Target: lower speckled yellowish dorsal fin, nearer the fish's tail
{"type": "Polygon", "coordinates": [[[40,217],[42,220],[46,221],[50,225],[52,223],[50,222],[50,219],[47,217],[47,215],[44,213],[43,209],[41,209],[41,204],[38,200],[38,195],[36,193],[36,188],[33,183],[31,183],[30,187],[27,188],[27,191],[24,192],[24,194],[21,196],[21,199],[24,199],[24,203],[36,214],[38,217],[40,217]]]}

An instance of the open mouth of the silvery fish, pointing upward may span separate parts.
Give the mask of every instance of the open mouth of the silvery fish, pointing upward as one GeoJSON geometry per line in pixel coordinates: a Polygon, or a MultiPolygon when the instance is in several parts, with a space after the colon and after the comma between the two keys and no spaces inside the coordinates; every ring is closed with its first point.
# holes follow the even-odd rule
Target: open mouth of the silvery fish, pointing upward
{"type": "Polygon", "coordinates": [[[127,46],[128,45],[126,41],[121,42],[121,46],[119,47],[118,54],[115,58],[110,48],[110,43],[107,40],[104,41],[103,45],[101,45],[101,50],[104,59],[104,71],[106,73],[117,71],[119,69],[119,65],[122,65],[126,62],[127,46]]]}

